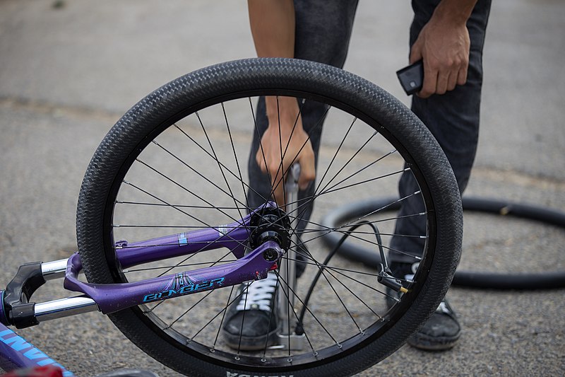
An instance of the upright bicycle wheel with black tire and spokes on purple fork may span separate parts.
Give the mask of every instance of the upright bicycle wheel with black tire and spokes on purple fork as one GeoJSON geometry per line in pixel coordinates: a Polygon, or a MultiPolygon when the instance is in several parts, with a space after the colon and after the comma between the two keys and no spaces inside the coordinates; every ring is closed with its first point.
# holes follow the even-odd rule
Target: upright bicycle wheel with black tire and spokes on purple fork
{"type": "MultiPolygon", "coordinates": [[[[227,347],[220,329],[234,287],[109,317],[143,351],[191,376],[357,373],[398,349],[438,306],[458,262],[462,211],[451,168],[424,125],[381,88],[340,69],[294,59],[228,62],[182,76],[133,106],[98,147],[81,187],[77,238],[86,277],[95,283],[133,282],[234,260],[229,250],[218,249],[124,270],[115,248],[122,247],[119,240],[218,228],[253,209],[246,202],[246,193],[254,190],[246,161],[261,95],[295,97],[301,109],[311,103],[326,109],[312,126],[324,122],[314,195],[302,199],[316,207],[299,230],[304,247],[297,247],[307,268],[293,307],[298,313],[307,306],[302,349],[227,347]],[[426,230],[396,235],[421,240],[422,257],[410,250],[420,267],[405,282],[408,293],[388,308],[374,271],[338,257],[325,261],[328,250],[320,236],[347,233],[347,227],[319,224],[328,210],[352,197],[392,195],[404,172],[417,181],[420,190],[410,197],[424,208],[410,216],[424,219],[426,230]]],[[[287,216],[292,223],[301,214],[287,216]]],[[[389,216],[375,224],[380,246],[369,227],[350,231],[350,237],[372,245],[375,253],[386,250],[395,220],[389,216]]],[[[285,284],[284,277],[279,281],[285,284]]]]}

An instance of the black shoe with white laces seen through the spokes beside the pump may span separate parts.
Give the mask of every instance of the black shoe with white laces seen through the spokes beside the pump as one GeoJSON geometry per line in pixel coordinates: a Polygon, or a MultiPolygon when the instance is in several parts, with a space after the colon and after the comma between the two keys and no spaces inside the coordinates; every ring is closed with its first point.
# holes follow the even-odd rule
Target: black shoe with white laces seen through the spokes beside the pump
{"type": "Polygon", "coordinates": [[[269,272],[266,279],[239,286],[238,299],[228,309],[222,327],[224,339],[229,347],[254,351],[263,349],[276,340],[277,286],[278,280],[274,272],[269,272]]]}

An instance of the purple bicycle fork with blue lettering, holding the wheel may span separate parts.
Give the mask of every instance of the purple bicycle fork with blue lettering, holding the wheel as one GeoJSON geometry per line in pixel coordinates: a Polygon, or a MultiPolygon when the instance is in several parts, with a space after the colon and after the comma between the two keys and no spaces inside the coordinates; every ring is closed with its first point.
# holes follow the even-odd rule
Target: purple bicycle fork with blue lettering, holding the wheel
{"type": "MultiPolygon", "coordinates": [[[[273,204],[268,204],[267,207],[273,207],[273,204]]],[[[138,243],[116,243],[117,260],[124,269],[217,248],[227,248],[237,258],[233,262],[212,267],[140,282],[90,284],[78,279],[78,273],[82,269],[78,253],[68,260],[22,265],[6,290],[0,291],[0,323],[23,328],[37,325],[44,320],[96,310],[104,314],[113,313],[143,303],[264,279],[270,270],[277,268],[277,261],[286,250],[272,238],[265,238],[254,250],[244,255],[252,215],[216,228],[179,233],[138,243]],[[45,303],[30,302],[31,295],[39,286],[47,280],[63,276],[65,289],[83,295],[45,303]]]]}

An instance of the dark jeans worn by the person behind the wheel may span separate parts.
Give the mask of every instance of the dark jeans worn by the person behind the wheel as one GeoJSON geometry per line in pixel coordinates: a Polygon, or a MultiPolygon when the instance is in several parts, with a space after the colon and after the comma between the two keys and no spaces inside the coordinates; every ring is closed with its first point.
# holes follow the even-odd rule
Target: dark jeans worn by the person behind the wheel
{"type": "MultiPolygon", "coordinates": [[[[410,46],[415,42],[422,27],[429,21],[438,3],[439,0],[412,1],[414,19],[410,27],[410,46]]],[[[420,117],[439,141],[451,163],[461,192],[468,183],[477,150],[482,87],[482,47],[490,3],[491,0],[479,0],[467,24],[471,40],[467,83],[444,95],[432,95],[427,99],[414,96],[412,100],[412,111],[420,117]]],[[[295,57],[342,68],[347,56],[356,9],[357,0],[295,0],[295,57]]],[[[310,135],[316,153],[316,163],[322,130],[320,120],[325,111],[325,106],[308,102],[302,108],[302,123],[310,135]]],[[[253,190],[249,190],[248,200],[252,208],[263,204],[265,198],[270,195],[268,177],[261,173],[255,161],[261,135],[268,126],[262,98],[257,107],[257,124],[258,129],[254,132],[249,157],[249,182],[253,190]]],[[[309,190],[299,192],[299,200],[304,200],[313,194],[315,185],[309,187],[309,190]]],[[[403,174],[398,190],[400,197],[406,196],[408,192],[417,191],[411,173],[403,174]]],[[[417,200],[406,200],[399,215],[420,212],[418,205],[417,200]]],[[[310,204],[310,207],[304,211],[303,219],[309,219],[311,209],[310,204]]],[[[395,233],[425,234],[426,224],[421,220],[418,221],[417,217],[399,219],[395,233]]],[[[405,250],[417,255],[422,253],[423,242],[424,240],[420,238],[394,237],[391,241],[391,249],[405,250]]],[[[397,262],[413,262],[413,258],[393,251],[390,253],[390,259],[397,262]]]]}

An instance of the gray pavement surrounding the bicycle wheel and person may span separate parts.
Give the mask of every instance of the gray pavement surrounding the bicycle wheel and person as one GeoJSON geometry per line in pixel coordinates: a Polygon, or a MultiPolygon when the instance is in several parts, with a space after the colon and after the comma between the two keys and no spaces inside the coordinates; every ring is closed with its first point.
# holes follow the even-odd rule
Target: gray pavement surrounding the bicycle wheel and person
{"type": "MultiPolygon", "coordinates": [[[[346,64],[405,102],[394,72],[407,60],[409,22],[408,1],[361,1],[346,64]]],[[[564,35],[559,0],[494,1],[468,195],[565,210],[564,35]]],[[[129,106],[186,72],[253,55],[241,0],[0,1],[0,282],[23,262],[76,250],[83,172],[129,106]]],[[[470,216],[465,268],[484,264],[480,252],[504,247],[509,260],[519,254],[565,269],[562,230],[528,222],[506,229],[502,221],[470,216]]],[[[448,296],[464,327],[455,349],[403,347],[361,375],[562,375],[564,294],[453,288],[448,296]]],[[[126,366],[175,374],[95,313],[21,333],[81,376],[126,366]]]]}

